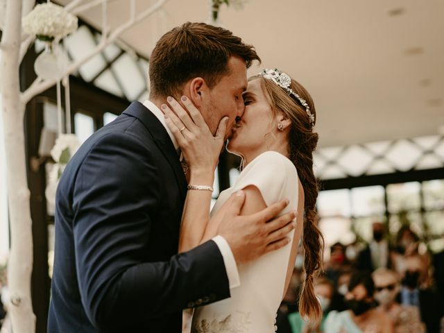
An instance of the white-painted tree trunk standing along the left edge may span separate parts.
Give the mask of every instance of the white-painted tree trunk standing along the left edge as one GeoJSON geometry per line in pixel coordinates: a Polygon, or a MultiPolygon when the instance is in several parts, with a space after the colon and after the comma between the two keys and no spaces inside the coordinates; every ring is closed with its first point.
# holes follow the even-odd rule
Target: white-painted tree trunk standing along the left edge
{"type": "Polygon", "coordinates": [[[10,214],[11,248],[8,260],[8,304],[14,332],[35,332],[31,302],[33,236],[30,192],[26,179],[24,140],[25,105],[20,100],[19,51],[22,31],[22,0],[8,0],[1,44],[1,94],[6,143],[6,172],[10,214]]]}

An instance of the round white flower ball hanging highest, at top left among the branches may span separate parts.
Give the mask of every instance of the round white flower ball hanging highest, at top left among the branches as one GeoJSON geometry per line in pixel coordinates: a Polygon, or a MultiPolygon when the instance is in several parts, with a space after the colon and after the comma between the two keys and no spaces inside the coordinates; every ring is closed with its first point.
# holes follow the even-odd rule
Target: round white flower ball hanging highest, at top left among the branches
{"type": "Polygon", "coordinates": [[[41,40],[60,40],[77,30],[78,19],[62,6],[41,3],[24,17],[22,27],[24,33],[36,35],[41,40]]]}

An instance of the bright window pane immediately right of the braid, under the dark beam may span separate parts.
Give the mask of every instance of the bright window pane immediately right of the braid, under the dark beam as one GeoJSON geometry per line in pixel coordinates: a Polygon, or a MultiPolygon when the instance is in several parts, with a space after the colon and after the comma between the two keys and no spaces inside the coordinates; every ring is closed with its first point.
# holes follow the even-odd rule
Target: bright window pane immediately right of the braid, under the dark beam
{"type": "Polygon", "coordinates": [[[350,216],[350,191],[348,189],[321,191],[317,206],[319,216],[350,216]]]}

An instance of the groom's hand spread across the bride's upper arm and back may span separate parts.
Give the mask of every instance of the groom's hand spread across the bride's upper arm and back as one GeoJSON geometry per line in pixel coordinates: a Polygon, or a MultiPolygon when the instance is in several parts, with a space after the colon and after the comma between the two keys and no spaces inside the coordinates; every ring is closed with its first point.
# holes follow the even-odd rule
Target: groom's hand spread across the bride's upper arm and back
{"type": "Polygon", "coordinates": [[[287,234],[296,227],[296,212],[276,217],[288,205],[288,200],[274,203],[255,214],[241,216],[244,201],[244,191],[238,191],[218,230],[230,245],[237,264],[286,246],[290,241],[287,234]]]}

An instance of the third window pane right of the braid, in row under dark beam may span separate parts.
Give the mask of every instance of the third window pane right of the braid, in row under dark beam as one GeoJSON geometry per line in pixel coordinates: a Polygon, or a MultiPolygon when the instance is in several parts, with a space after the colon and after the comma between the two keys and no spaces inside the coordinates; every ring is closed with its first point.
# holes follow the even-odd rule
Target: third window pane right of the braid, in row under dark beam
{"type": "Polygon", "coordinates": [[[419,210],[420,183],[404,182],[387,186],[388,212],[419,210]]]}

